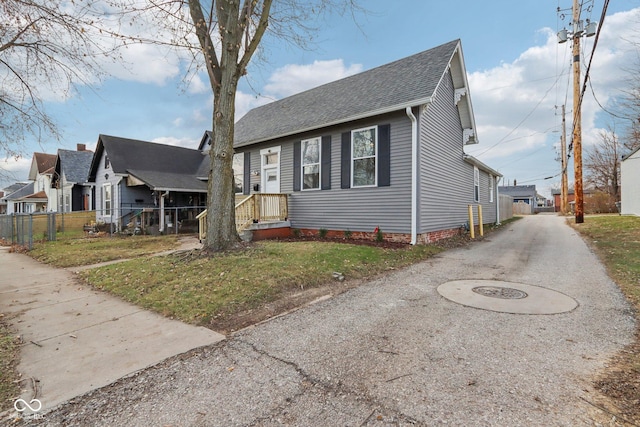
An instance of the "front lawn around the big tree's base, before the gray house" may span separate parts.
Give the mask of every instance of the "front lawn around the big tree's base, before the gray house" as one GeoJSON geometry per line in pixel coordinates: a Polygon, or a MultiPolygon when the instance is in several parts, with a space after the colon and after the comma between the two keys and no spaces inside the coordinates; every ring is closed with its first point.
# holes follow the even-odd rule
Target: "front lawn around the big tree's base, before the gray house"
{"type": "Polygon", "coordinates": [[[287,292],[371,277],[426,259],[442,249],[389,249],[330,241],[261,241],[200,256],[188,253],[140,258],[82,273],[94,287],[182,321],[212,321],[274,301],[287,292]]]}

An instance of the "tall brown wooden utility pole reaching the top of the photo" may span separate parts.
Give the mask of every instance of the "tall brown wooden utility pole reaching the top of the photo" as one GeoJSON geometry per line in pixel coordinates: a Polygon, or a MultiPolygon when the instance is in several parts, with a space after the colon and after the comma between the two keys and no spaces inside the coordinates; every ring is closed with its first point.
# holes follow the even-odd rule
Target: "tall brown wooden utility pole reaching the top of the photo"
{"type": "Polygon", "coordinates": [[[584,222],[582,198],[582,111],[580,108],[580,5],[573,0],[573,173],[576,224],[584,222]]]}

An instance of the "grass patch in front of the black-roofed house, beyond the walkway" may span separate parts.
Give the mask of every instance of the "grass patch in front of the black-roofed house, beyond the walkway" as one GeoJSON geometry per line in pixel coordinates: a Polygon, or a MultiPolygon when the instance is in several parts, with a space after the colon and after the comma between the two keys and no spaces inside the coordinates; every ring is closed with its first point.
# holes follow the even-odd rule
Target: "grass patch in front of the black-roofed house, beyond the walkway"
{"type": "Polygon", "coordinates": [[[29,255],[46,264],[64,268],[135,258],[177,247],[175,235],[82,238],[59,235],[56,241],[36,243],[29,255]]]}

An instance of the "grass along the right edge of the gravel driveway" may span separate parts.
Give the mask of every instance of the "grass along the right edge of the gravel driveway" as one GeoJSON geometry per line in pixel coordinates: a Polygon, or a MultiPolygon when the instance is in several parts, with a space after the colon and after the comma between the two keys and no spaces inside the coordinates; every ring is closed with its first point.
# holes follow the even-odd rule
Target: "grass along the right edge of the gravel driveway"
{"type": "MultiPolygon", "coordinates": [[[[640,313],[640,217],[587,216],[573,224],[595,249],[629,302],[640,313]]],[[[640,425],[640,332],[636,342],[618,355],[597,387],[614,399],[612,411],[640,425]]]]}

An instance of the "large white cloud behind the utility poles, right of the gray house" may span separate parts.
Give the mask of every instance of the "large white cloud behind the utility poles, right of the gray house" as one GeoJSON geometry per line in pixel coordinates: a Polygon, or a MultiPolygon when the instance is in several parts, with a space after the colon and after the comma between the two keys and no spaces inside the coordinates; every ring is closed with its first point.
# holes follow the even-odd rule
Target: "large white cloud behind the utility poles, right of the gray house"
{"type": "MultiPolygon", "coordinates": [[[[636,30],[638,21],[640,9],[617,13],[605,20],[590,71],[591,85],[582,103],[582,134],[586,146],[597,141],[602,121],[606,120],[591,86],[602,105],[623,93],[630,69],[638,65],[637,47],[632,45],[640,42],[636,30]]],[[[560,139],[561,115],[560,108],[556,107],[562,104],[566,105],[570,140],[571,44],[559,45],[555,33],[548,28],[541,33],[546,34],[546,42],[527,49],[515,61],[469,74],[480,141],[478,146],[466,149],[470,154],[499,164],[514,158],[510,156],[533,154],[544,146],[551,150],[560,139]]],[[[582,39],[583,79],[593,42],[593,38],[582,39]]]]}

